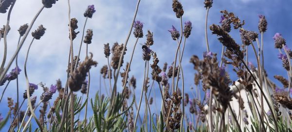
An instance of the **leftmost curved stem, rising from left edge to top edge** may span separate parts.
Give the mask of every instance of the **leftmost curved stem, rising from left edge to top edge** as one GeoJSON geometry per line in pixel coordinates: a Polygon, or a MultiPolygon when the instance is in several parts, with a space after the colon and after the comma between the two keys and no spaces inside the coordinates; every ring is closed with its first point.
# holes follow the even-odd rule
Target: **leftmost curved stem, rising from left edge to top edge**
{"type": "MultiPolygon", "coordinates": [[[[8,32],[8,27],[9,27],[9,22],[10,22],[10,15],[11,15],[11,12],[12,12],[12,9],[14,7],[14,4],[15,4],[16,0],[13,0],[11,6],[10,6],[10,9],[8,11],[8,15],[7,15],[7,22],[6,22],[6,27],[5,27],[5,30],[4,30],[4,56],[3,56],[3,60],[2,60],[2,63],[1,63],[1,66],[0,66],[0,72],[2,72],[3,68],[4,68],[4,65],[5,65],[5,61],[6,61],[6,56],[7,56],[7,32],[8,32]]],[[[2,80],[2,78],[0,78],[0,80],[2,80]]]]}

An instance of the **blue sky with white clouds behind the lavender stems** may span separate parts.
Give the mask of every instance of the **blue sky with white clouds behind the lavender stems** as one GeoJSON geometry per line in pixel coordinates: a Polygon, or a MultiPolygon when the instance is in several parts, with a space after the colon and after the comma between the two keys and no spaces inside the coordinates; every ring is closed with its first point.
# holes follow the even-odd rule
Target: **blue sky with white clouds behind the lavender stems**
{"type": "MultiPolygon", "coordinates": [[[[180,1],[182,2],[184,9],[183,22],[190,20],[193,24],[191,35],[189,39],[186,40],[186,47],[182,61],[185,76],[185,90],[186,92],[190,92],[190,88],[194,87],[193,77],[195,71],[193,70],[193,65],[188,61],[192,55],[195,54],[202,57],[202,52],[206,51],[204,40],[205,8],[203,7],[203,0],[180,1]]],[[[89,52],[93,53],[93,59],[99,63],[97,67],[91,69],[90,97],[93,97],[95,92],[99,89],[100,68],[107,64],[107,59],[103,54],[103,44],[110,43],[111,46],[114,42],[118,42],[119,44],[125,42],[133,17],[132,15],[135,10],[136,0],[71,0],[71,17],[75,17],[78,20],[79,28],[76,29],[77,31],[82,31],[85,22],[83,13],[90,4],[94,4],[96,12],[92,19],[88,20],[86,25],[86,29],[93,30],[93,39],[92,44],[89,45],[89,52]]],[[[167,31],[172,25],[177,29],[180,27],[180,19],[175,17],[171,4],[172,0],[141,0],[140,8],[136,17],[136,20],[144,22],[144,34],[146,34],[147,29],[154,33],[154,45],[151,49],[157,53],[158,58],[160,59],[160,67],[163,67],[164,62],[170,64],[174,60],[177,46],[176,42],[171,39],[170,33],[167,31]]],[[[40,0],[18,0],[16,2],[11,15],[11,30],[7,36],[8,59],[11,58],[16,49],[18,41],[17,29],[25,23],[30,23],[41,5],[42,3],[40,0]]],[[[292,45],[290,44],[292,42],[292,33],[290,32],[292,9],[290,5],[292,5],[292,1],[290,0],[214,0],[213,7],[209,11],[208,25],[213,23],[219,24],[219,11],[227,10],[235,13],[235,15],[241,20],[245,20],[245,29],[257,31],[258,15],[265,15],[268,21],[268,30],[264,34],[265,69],[267,70],[269,77],[274,80],[273,76],[275,74],[280,74],[285,77],[287,76],[286,71],[282,68],[281,60],[277,59],[278,51],[274,48],[274,40],[272,37],[275,32],[282,33],[283,37],[286,39],[288,47],[292,48],[292,45]]],[[[7,14],[0,14],[0,25],[6,24],[6,17],[7,14]]],[[[56,4],[54,4],[52,8],[44,9],[37,18],[31,31],[37,29],[37,26],[40,24],[43,24],[47,30],[44,36],[40,40],[36,40],[32,45],[27,69],[29,80],[31,83],[43,82],[47,84],[47,86],[50,86],[51,84],[55,84],[55,80],[60,78],[64,85],[66,81],[66,69],[70,44],[67,26],[67,0],[56,1],[56,4]]],[[[231,35],[237,41],[237,44],[241,44],[238,30],[232,29],[231,35]]],[[[217,36],[212,35],[209,29],[208,37],[210,50],[220,54],[221,44],[217,40],[217,36]]],[[[21,69],[23,69],[26,50],[28,49],[31,40],[32,36],[29,35],[20,50],[18,64],[21,69]]],[[[77,47],[79,47],[80,41],[81,33],[78,34],[73,41],[74,54],[78,52],[77,47]]],[[[131,34],[128,42],[128,52],[124,59],[125,62],[129,61],[129,54],[134,42],[135,38],[131,34]]],[[[145,42],[146,38],[144,37],[139,39],[138,43],[144,44],[145,42]]],[[[253,55],[251,52],[250,55],[250,60],[255,63],[256,61],[255,59],[252,59],[253,55]]],[[[0,58],[2,59],[2,57],[3,39],[0,42],[0,58]]],[[[80,56],[81,60],[84,58],[85,45],[83,45],[80,56]]],[[[152,61],[150,61],[150,63],[152,63],[152,61]]],[[[15,64],[13,65],[15,66],[15,64]]],[[[131,65],[131,71],[129,73],[129,76],[134,75],[137,78],[136,97],[140,95],[143,82],[143,71],[144,61],[142,59],[142,49],[141,45],[138,44],[131,65]]],[[[230,74],[234,74],[232,71],[229,72],[230,74]]],[[[235,79],[234,75],[232,77],[235,79]]],[[[20,73],[19,78],[19,97],[20,101],[22,101],[22,93],[25,89],[23,72],[20,73]]],[[[118,82],[120,82],[120,80],[118,82]]],[[[275,81],[275,83],[279,84],[277,81],[275,81]]],[[[121,85],[118,84],[118,86],[121,85]]],[[[4,86],[0,87],[0,92],[2,92],[3,88],[4,86]]],[[[119,88],[121,89],[121,87],[119,88]]],[[[157,98],[160,99],[157,84],[154,86],[154,89],[157,93],[157,98]]],[[[35,93],[35,95],[38,96],[37,100],[39,100],[41,93],[42,90],[39,88],[35,93]]],[[[104,90],[103,93],[105,93],[104,90]]],[[[8,108],[6,107],[7,97],[14,97],[16,100],[15,81],[11,82],[3,97],[4,100],[0,103],[0,105],[4,106],[0,109],[0,113],[3,115],[8,111],[8,108]]],[[[160,107],[159,103],[158,106],[160,107]]],[[[154,109],[154,107],[152,109],[154,109]]],[[[141,113],[143,112],[144,109],[142,109],[141,113]]]]}

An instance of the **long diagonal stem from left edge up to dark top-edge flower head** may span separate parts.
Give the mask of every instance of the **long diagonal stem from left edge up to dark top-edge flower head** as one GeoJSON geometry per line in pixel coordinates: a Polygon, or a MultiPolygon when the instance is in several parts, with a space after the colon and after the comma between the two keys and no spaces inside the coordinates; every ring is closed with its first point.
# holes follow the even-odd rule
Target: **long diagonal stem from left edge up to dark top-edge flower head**
{"type": "Polygon", "coordinates": [[[43,5],[39,11],[37,12],[37,15],[34,17],[34,19],[32,20],[31,24],[29,25],[29,27],[27,28],[22,40],[20,41],[18,47],[17,47],[17,50],[15,51],[15,53],[13,54],[12,58],[9,60],[7,66],[4,68],[3,72],[1,73],[0,75],[0,80],[2,80],[4,78],[4,75],[7,73],[8,69],[10,68],[12,62],[14,61],[14,59],[16,58],[16,56],[18,55],[18,52],[20,50],[20,48],[22,47],[28,33],[30,32],[30,30],[32,29],[32,26],[34,25],[38,15],[41,13],[41,11],[45,8],[45,6],[43,5]]]}

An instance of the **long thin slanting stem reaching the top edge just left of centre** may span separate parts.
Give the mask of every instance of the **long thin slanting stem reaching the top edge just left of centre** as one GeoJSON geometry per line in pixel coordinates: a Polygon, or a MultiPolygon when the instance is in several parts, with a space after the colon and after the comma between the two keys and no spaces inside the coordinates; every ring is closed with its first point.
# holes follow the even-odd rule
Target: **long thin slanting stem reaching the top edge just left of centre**
{"type": "Polygon", "coordinates": [[[112,104],[113,103],[113,98],[116,95],[117,80],[118,80],[118,75],[119,75],[120,68],[121,68],[121,65],[122,65],[122,59],[123,59],[123,56],[124,56],[124,53],[125,53],[125,49],[127,47],[128,40],[130,38],[132,29],[133,29],[133,25],[134,25],[134,21],[136,19],[136,15],[137,15],[137,12],[138,12],[139,4],[140,4],[140,0],[137,1],[137,5],[136,5],[136,9],[135,9],[135,13],[134,13],[133,20],[132,20],[132,24],[131,24],[130,29],[129,29],[129,32],[128,32],[128,37],[126,39],[125,45],[124,45],[123,50],[121,52],[122,54],[121,54],[120,59],[119,59],[118,69],[117,69],[116,77],[114,78],[113,90],[112,90],[112,94],[111,94],[111,105],[113,105],[112,104]]]}

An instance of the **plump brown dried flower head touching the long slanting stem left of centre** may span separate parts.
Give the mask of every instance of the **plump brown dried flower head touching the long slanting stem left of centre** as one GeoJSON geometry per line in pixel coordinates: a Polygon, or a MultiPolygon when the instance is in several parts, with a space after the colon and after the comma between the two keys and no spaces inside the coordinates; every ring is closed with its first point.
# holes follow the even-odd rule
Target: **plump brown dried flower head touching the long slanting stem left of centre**
{"type": "MultiPolygon", "coordinates": [[[[113,52],[111,63],[110,63],[112,69],[118,69],[118,65],[119,65],[119,61],[120,61],[120,57],[121,57],[123,48],[124,48],[124,44],[116,45],[114,47],[114,52],[113,52]]],[[[125,48],[124,55],[122,56],[121,66],[123,66],[123,63],[124,63],[124,56],[126,54],[126,51],[127,51],[127,47],[125,48]]]]}

